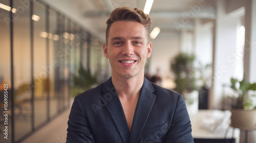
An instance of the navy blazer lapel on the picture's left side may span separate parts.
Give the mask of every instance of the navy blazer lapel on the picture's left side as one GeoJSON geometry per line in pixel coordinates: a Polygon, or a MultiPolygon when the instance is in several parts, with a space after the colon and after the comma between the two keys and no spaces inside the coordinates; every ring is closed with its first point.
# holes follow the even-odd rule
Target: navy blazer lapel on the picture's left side
{"type": "MultiPolygon", "coordinates": [[[[106,81],[103,85],[102,91],[104,92],[101,97],[104,99],[104,96],[108,96],[109,100],[106,101],[106,108],[109,110],[110,115],[118,129],[118,132],[124,143],[129,141],[129,128],[126,122],[124,112],[122,110],[122,104],[117,96],[116,90],[112,83],[112,78],[106,81]],[[110,98],[112,95],[112,98],[110,98]]],[[[102,99],[102,100],[103,100],[102,99]]]]}

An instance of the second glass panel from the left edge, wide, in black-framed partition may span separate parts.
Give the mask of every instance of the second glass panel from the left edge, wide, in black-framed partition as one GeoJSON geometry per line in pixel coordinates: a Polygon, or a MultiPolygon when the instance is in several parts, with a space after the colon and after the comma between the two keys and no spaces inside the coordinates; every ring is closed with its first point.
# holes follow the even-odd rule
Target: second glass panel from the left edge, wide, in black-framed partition
{"type": "Polygon", "coordinates": [[[13,1],[14,122],[15,140],[32,131],[30,8],[13,1]]]}

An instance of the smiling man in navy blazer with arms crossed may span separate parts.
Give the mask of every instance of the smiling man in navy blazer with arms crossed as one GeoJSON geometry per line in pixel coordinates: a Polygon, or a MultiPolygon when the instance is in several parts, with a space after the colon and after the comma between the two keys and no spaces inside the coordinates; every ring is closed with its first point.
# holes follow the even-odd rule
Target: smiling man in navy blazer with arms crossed
{"type": "Polygon", "coordinates": [[[106,23],[112,77],[75,97],[67,142],[194,142],[182,96],[144,78],[151,18],[123,7],[106,23]]]}

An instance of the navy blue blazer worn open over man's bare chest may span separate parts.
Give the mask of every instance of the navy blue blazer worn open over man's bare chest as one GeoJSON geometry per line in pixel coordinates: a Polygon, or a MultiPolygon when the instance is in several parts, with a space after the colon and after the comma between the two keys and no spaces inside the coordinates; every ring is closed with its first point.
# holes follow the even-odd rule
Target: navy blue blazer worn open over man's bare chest
{"type": "Polygon", "coordinates": [[[194,142],[182,96],[145,78],[131,132],[111,78],[75,97],[67,131],[68,143],[194,142]]]}

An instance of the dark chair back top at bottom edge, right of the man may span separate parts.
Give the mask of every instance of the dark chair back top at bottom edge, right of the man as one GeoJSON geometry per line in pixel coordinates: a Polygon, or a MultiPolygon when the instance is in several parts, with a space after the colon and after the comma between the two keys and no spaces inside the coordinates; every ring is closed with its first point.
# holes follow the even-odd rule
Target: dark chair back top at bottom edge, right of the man
{"type": "Polygon", "coordinates": [[[194,138],[195,143],[235,143],[234,138],[194,138]]]}

